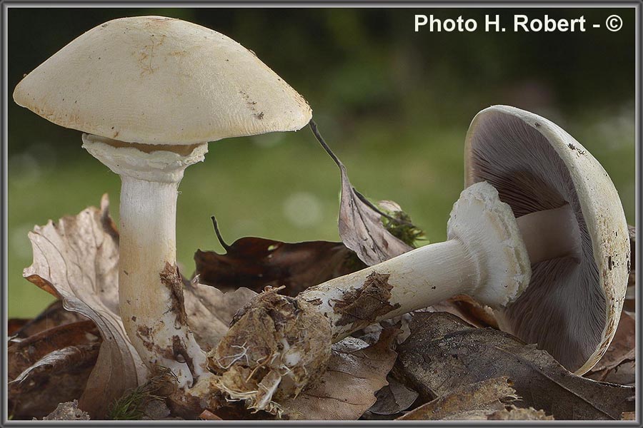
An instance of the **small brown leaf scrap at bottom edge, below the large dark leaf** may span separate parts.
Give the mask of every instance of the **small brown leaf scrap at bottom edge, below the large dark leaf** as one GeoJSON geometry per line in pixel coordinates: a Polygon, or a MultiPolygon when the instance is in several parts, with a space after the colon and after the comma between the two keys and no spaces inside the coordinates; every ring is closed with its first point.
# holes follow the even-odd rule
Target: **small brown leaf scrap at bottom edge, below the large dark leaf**
{"type": "Polygon", "coordinates": [[[413,409],[397,420],[467,420],[469,412],[487,419],[488,414],[504,410],[504,403],[517,399],[507,377],[494,377],[473,384],[465,384],[449,394],[438,397],[413,409]]]}

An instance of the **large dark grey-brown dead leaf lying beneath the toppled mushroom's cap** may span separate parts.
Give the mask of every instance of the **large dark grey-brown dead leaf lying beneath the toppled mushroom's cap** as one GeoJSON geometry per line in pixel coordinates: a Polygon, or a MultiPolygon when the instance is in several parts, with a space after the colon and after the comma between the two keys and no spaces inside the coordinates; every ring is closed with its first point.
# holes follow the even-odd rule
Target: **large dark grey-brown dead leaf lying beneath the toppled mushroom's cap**
{"type": "Polygon", "coordinates": [[[618,419],[632,410],[633,387],[569,373],[535,345],[491,328],[475,328],[451,314],[418,312],[399,346],[396,373],[426,397],[440,397],[493,377],[507,376],[523,401],[555,419],[618,419]]]}

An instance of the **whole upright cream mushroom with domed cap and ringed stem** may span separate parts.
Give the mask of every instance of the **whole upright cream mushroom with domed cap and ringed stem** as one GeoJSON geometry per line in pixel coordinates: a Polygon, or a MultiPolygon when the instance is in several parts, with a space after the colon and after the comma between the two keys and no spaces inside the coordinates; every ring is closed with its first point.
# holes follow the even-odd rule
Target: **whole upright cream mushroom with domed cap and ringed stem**
{"type": "Polygon", "coordinates": [[[236,41],[162,16],[87,31],[29,73],[14,100],[84,131],[83,147],[121,176],[121,319],[148,367],[168,367],[191,387],[207,364],[176,268],[179,182],[208,141],[296,131],[311,118],[308,104],[236,41]]]}

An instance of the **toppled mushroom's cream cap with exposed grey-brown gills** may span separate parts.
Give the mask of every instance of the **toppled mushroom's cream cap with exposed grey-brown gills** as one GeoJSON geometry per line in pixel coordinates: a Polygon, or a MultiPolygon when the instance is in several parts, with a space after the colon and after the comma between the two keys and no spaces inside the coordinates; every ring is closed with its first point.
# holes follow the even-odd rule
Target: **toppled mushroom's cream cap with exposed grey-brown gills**
{"type": "Polygon", "coordinates": [[[527,290],[502,313],[502,327],[537,343],[583,374],[614,337],[629,272],[627,222],[598,161],[562,128],[534,113],[492,106],[473,119],[466,185],[488,181],[520,217],[569,203],[582,240],[578,260],[532,265],[527,290]]]}

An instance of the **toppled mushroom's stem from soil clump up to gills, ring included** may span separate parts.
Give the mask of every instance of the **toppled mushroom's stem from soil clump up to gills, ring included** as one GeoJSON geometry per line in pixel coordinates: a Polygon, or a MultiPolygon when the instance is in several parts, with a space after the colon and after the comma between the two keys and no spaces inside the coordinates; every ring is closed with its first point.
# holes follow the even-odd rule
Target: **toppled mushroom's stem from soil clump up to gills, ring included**
{"type": "MultiPolygon", "coordinates": [[[[471,197],[471,191],[463,192],[461,200],[471,197]]],[[[497,212],[480,205],[477,208],[480,218],[467,225],[467,233],[457,233],[450,227],[450,239],[443,243],[425,245],[359,272],[334,278],[309,288],[299,297],[307,302],[319,302],[319,310],[331,321],[334,340],[341,340],[373,322],[429,307],[459,294],[471,295],[494,308],[503,307],[518,297],[519,290],[528,280],[514,278],[511,273],[494,280],[494,270],[512,269],[494,253],[516,251],[519,245],[512,240],[522,237],[530,265],[575,256],[580,251],[580,233],[569,204],[516,220],[506,204],[499,200],[497,204],[497,207],[504,205],[503,208],[507,208],[497,219],[486,218],[489,213],[497,215],[497,212]],[[497,235],[497,228],[507,228],[510,220],[517,225],[519,234],[506,240],[502,233],[497,235]],[[520,284],[515,283],[516,280],[520,284]],[[356,299],[357,305],[347,305],[356,299]]],[[[457,205],[449,223],[459,215],[457,205]]]]}

